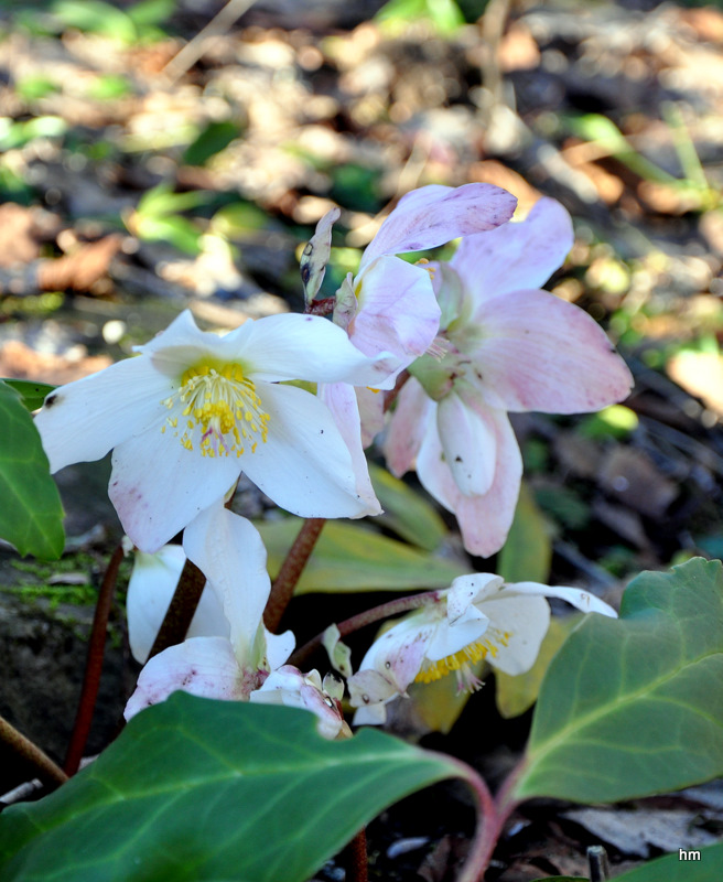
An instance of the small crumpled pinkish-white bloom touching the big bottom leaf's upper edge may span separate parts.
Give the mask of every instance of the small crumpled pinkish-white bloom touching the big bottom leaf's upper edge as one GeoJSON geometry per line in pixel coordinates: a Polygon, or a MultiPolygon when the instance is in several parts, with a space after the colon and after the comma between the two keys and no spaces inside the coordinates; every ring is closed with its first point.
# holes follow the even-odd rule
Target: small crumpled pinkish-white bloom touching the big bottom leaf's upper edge
{"type": "Polygon", "coordinates": [[[350,738],[352,730],[344,720],[342,697],[344,685],[327,674],[322,678],[317,670],[302,674],[293,665],[283,665],[251,692],[250,700],[258,704],[285,704],[303,708],[319,718],[316,731],[327,739],[350,738]]]}

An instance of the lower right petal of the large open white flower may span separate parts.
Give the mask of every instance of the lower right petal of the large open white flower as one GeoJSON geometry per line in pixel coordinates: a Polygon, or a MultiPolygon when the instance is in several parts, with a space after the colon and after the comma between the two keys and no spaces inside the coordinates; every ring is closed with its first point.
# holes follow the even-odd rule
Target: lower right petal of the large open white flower
{"type": "Polygon", "coordinates": [[[267,496],[301,517],[364,517],[381,512],[357,491],[352,456],[328,408],[292,386],[259,389],[269,437],[242,458],[244,471],[267,496]]]}

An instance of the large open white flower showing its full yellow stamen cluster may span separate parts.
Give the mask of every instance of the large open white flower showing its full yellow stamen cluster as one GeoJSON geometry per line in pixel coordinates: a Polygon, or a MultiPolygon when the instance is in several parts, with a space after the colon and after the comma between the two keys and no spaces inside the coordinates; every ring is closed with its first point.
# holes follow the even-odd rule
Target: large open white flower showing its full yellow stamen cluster
{"type": "Polygon", "coordinates": [[[109,495],[140,549],[169,541],[241,471],[302,517],[379,514],[376,498],[356,491],[328,409],[281,383],[389,388],[393,358],[367,358],[327,320],[292,314],[217,336],[186,311],[137,348],[138,357],[48,395],[35,423],[53,472],[114,450],[109,495]]]}

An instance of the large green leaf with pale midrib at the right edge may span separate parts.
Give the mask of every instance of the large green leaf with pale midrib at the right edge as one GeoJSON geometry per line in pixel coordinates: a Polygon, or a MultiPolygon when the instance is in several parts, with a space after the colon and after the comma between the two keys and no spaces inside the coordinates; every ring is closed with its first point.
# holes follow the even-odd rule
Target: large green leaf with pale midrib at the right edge
{"type": "Polygon", "coordinates": [[[615,802],[723,774],[723,566],[644,572],[546,675],[517,798],[615,802]]]}

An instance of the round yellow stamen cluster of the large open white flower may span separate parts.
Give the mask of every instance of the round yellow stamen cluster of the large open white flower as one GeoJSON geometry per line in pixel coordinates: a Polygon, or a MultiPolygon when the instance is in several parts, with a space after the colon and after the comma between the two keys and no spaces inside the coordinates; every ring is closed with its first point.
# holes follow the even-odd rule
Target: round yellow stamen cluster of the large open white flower
{"type": "Polygon", "coordinates": [[[201,362],[190,367],[180,389],[162,404],[173,412],[161,431],[170,426],[174,438],[182,431],[183,447],[193,450],[195,443],[203,456],[240,456],[247,447],[253,453],[259,440],[266,441],[269,434],[269,415],[238,364],[201,362]]]}

